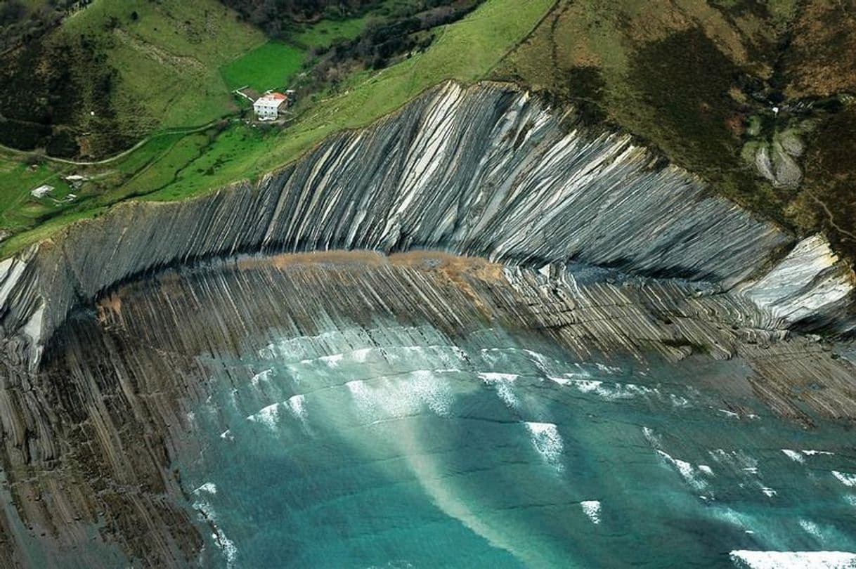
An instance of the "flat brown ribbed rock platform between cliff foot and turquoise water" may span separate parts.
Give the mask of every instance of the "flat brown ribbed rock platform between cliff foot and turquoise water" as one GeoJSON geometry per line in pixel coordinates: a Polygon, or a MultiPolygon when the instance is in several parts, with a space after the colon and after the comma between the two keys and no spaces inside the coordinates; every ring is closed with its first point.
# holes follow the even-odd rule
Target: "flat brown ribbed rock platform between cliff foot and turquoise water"
{"type": "MultiPolygon", "coordinates": [[[[54,555],[49,565],[68,566],[74,548],[91,551],[84,544],[95,537],[141,566],[192,564],[200,526],[172,470],[173,457],[204,452],[190,411],[223,382],[253,376],[241,354],[293,337],[323,343],[355,325],[369,345],[383,337],[383,322],[429,326],[453,346],[491,326],[529,330],[569,359],[673,366],[741,417],[758,412],[741,404],[746,393],[807,425],[856,417],[856,368],[789,339],[744,297],[552,273],[443,254],[287,255],[168,270],[110,294],[62,325],[38,373],[3,365],[3,471],[15,505],[5,558],[32,565],[21,543],[41,540],[54,555]],[[711,387],[698,377],[710,356],[741,363],[723,366],[711,387]]],[[[117,564],[104,560],[83,565],[117,564]]]]}

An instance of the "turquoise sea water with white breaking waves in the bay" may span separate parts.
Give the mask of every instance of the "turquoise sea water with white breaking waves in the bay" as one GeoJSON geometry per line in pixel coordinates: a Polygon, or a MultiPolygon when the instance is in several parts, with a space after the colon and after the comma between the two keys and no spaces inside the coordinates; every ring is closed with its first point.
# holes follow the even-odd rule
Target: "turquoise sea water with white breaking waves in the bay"
{"type": "Polygon", "coordinates": [[[233,379],[212,376],[222,387],[193,412],[201,452],[178,465],[205,564],[715,567],[740,564],[737,550],[856,552],[853,432],[802,430],[749,393],[737,402],[752,414],[736,416],[711,386],[746,373],[739,362],[605,364],[503,330],[451,341],[379,323],[206,364],[233,379]]]}

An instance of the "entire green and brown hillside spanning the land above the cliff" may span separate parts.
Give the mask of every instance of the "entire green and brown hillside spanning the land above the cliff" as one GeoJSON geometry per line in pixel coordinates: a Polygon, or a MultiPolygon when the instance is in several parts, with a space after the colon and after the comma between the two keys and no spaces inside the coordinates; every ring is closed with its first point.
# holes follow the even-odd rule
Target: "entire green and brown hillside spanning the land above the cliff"
{"type": "MultiPolygon", "coordinates": [[[[0,155],[0,176],[9,173],[0,181],[15,184],[4,188],[9,205],[0,210],[0,230],[20,234],[3,252],[122,199],[184,199],[262,175],[442,80],[495,79],[574,104],[598,127],[633,133],[712,191],[798,233],[823,230],[856,258],[856,175],[846,158],[856,145],[856,60],[835,56],[856,49],[852,7],[486,0],[443,24],[435,9],[415,15],[418,5],[368,4],[350,16],[294,24],[284,40],[269,40],[214,0],[193,9],[177,0],[96,0],[52,36],[95,38],[96,57],[87,57],[97,62],[103,53],[108,65],[81,68],[116,69],[107,118],[96,113],[83,123],[116,124],[106,129],[114,138],[126,130],[157,136],[109,163],[45,163],[32,175],[11,174],[22,171],[21,157],[0,155]],[[441,23],[425,27],[425,20],[441,23]],[[831,35],[821,25],[830,21],[839,22],[831,35]],[[390,44],[397,51],[388,57],[390,44]],[[217,122],[235,111],[229,89],[293,82],[300,98],[284,127],[247,124],[235,114],[217,122]],[[776,105],[792,106],[778,113],[776,105]],[[794,137],[805,146],[800,181],[764,178],[758,149],[794,137]],[[59,173],[88,178],[74,204],[27,197],[40,177],[58,180],[59,173]]],[[[77,82],[98,85],[98,74],[85,79],[77,82]]],[[[82,91],[74,109],[98,109],[90,103],[102,100],[99,93],[82,91]]]]}

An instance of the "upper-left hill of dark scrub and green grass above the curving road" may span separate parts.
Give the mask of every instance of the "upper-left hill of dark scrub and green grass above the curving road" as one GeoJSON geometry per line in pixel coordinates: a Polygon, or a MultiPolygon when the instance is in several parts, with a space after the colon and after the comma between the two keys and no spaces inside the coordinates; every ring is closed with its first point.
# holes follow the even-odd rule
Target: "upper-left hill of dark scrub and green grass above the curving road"
{"type": "Polygon", "coordinates": [[[265,43],[217,0],[94,0],[0,56],[0,143],[107,157],[237,110],[221,65],[265,43]]]}

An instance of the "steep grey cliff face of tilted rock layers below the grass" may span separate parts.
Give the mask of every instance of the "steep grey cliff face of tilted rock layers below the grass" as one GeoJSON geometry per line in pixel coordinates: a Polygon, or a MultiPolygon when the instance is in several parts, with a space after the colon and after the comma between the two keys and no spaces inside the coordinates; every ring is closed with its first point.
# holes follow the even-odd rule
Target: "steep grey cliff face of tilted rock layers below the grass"
{"type": "Polygon", "coordinates": [[[853,276],[662,166],[627,136],[512,86],[439,86],[299,162],[199,199],[120,204],[0,263],[5,352],[35,368],[79,302],[134,276],[239,253],[442,249],[538,268],[575,262],[714,282],[788,326],[853,329],[853,276]]]}

